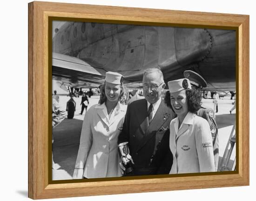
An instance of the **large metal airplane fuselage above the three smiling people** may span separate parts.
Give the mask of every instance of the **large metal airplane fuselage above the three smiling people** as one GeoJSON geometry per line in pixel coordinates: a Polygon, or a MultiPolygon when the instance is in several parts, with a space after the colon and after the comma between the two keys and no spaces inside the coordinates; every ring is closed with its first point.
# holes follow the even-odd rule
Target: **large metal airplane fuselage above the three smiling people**
{"type": "MultiPolygon", "coordinates": [[[[120,72],[127,82],[141,82],[144,70],[159,66],[165,82],[182,78],[190,69],[201,74],[209,88],[236,86],[234,30],[67,22],[53,38],[53,52],[79,58],[102,75],[120,72]]],[[[59,72],[53,67],[53,77],[59,72]]],[[[62,76],[79,83],[75,76],[62,76]]]]}

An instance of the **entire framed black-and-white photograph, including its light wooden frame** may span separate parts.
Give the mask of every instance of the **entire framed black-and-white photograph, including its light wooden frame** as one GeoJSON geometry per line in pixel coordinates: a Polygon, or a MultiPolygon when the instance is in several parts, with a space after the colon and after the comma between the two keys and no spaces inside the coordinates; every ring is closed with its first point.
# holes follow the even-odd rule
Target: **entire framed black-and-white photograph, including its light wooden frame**
{"type": "Polygon", "coordinates": [[[30,3],[29,197],[248,185],[248,20],[30,3]]]}

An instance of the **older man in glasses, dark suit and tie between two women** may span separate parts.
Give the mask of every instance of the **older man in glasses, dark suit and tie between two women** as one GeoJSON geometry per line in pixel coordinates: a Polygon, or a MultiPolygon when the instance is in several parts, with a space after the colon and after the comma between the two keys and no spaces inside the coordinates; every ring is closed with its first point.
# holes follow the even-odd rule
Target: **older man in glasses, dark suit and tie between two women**
{"type": "Polygon", "coordinates": [[[118,144],[127,146],[127,158],[134,163],[129,175],[168,174],[171,169],[173,158],[166,131],[175,113],[161,98],[164,88],[160,68],[148,69],[143,74],[145,99],[128,105],[118,144]]]}

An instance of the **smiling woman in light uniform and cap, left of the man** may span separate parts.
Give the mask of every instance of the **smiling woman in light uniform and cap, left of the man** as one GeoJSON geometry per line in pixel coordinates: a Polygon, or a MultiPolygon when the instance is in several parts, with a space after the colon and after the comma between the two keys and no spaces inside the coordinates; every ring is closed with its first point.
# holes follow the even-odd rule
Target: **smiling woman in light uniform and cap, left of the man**
{"type": "Polygon", "coordinates": [[[99,104],[86,112],[80,146],[74,168],[74,179],[121,176],[117,140],[122,130],[126,105],[122,75],[106,72],[99,104]]]}

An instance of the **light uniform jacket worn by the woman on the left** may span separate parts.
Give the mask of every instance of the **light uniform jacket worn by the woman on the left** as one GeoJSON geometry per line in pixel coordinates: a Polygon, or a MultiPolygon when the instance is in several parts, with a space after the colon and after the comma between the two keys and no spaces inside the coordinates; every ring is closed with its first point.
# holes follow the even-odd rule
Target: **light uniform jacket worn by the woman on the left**
{"type": "Polygon", "coordinates": [[[110,119],[105,103],[93,105],[85,114],[75,168],[84,168],[84,177],[121,176],[117,140],[126,106],[118,103],[110,119]]]}

